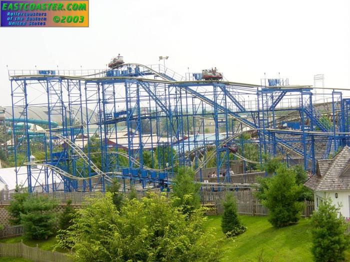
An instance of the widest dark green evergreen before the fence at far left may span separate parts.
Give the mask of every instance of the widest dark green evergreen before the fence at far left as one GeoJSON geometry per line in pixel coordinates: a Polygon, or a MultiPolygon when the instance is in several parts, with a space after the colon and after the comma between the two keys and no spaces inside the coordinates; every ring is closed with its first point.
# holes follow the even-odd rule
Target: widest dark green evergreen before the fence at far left
{"type": "Polygon", "coordinates": [[[56,207],[58,204],[45,196],[31,196],[23,202],[24,213],[20,213],[20,223],[24,236],[28,239],[47,239],[53,235],[56,224],[53,209],[56,207]]]}

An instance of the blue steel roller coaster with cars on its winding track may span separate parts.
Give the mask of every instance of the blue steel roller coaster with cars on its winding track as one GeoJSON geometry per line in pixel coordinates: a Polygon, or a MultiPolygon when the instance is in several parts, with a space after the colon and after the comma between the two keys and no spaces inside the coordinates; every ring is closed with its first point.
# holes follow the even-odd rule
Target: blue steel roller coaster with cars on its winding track
{"type": "MultiPolygon", "coordinates": [[[[8,71],[12,118],[6,121],[16,174],[27,175],[29,192],[38,185],[53,191],[57,175],[64,191],[104,191],[113,178],[124,187],[168,190],[181,166],[192,166],[199,183],[208,185],[203,171],[210,162],[216,174],[228,174],[232,159],[246,171],[267,155],[315,173],[317,159],[349,145],[350,99],[339,89],[327,89],[324,108],[314,103],[312,86],[289,85],[288,79],[244,84],[113,61],[101,70],[8,71]],[[33,105],[47,108],[37,131],[30,124],[40,123],[28,119],[33,105]],[[96,117],[82,111],[87,108],[96,117]],[[38,145],[44,157],[33,161],[38,145]],[[249,148],[257,154],[250,156],[249,148]]],[[[211,184],[224,186],[219,177],[211,184]]]]}

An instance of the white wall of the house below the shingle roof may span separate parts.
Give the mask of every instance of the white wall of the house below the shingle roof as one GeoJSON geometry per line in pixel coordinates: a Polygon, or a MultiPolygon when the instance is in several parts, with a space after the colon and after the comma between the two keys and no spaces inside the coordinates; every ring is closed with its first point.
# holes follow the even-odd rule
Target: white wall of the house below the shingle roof
{"type": "Polygon", "coordinates": [[[337,191],[316,191],[314,193],[314,202],[315,202],[315,210],[317,209],[317,198],[318,198],[318,204],[320,201],[325,199],[326,197],[329,197],[336,207],[338,205],[341,205],[340,207],[340,213],[343,217],[349,218],[349,196],[350,196],[350,190],[337,190],[337,191]],[[335,198],[335,193],[338,194],[338,197],[335,198]]]}

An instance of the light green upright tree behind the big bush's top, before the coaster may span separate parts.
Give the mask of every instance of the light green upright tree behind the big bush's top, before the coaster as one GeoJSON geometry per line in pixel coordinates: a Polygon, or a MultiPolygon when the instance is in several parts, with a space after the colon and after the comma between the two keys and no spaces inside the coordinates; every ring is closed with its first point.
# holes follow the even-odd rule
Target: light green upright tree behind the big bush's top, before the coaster
{"type": "Polygon", "coordinates": [[[171,195],[176,198],[174,205],[182,207],[183,212],[190,215],[200,207],[199,190],[200,184],[194,183],[193,169],[180,167],[172,181],[171,195]]]}

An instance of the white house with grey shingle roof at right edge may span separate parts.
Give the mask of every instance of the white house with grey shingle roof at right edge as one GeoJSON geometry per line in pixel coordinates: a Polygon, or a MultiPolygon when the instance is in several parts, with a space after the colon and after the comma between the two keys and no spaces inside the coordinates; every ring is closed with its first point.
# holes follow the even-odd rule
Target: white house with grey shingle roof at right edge
{"type": "Polygon", "coordinates": [[[315,209],[329,197],[341,205],[343,217],[350,217],[350,148],[345,146],[333,159],[317,161],[316,174],[304,184],[314,192],[315,209]]]}

